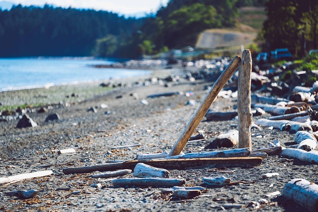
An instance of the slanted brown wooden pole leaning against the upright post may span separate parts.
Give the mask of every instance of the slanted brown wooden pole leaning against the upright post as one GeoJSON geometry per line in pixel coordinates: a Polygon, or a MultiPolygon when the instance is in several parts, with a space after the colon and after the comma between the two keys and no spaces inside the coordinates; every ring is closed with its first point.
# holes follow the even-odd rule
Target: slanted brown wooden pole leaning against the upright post
{"type": "Polygon", "coordinates": [[[214,101],[218,93],[221,91],[225,83],[231,78],[233,73],[238,69],[239,62],[240,62],[240,57],[239,56],[234,57],[234,59],[229,64],[229,66],[222,72],[222,74],[219,76],[217,81],[213,84],[209,93],[206,95],[200,107],[191,118],[190,122],[184,129],[178,141],[176,141],[176,143],[174,144],[173,148],[171,149],[169,153],[169,156],[180,154],[180,152],[186,145],[187,141],[189,140],[189,138],[191,137],[195,129],[200,124],[201,120],[203,119],[204,115],[208,111],[209,107],[211,106],[212,102],[214,101]]]}

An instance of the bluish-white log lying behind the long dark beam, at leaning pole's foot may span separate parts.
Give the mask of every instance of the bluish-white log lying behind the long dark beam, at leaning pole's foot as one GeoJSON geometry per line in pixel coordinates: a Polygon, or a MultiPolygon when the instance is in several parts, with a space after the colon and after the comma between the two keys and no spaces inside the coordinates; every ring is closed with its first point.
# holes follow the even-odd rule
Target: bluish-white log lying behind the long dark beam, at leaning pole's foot
{"type": "Polygon", "coordinates": [[[217,158],[217,157],[247,157],[250,153],[249,148],[227,149],[223,151],[201,151],[192,152],[184,155],[166,157],[166,159],[181,158],[217,158]]]}

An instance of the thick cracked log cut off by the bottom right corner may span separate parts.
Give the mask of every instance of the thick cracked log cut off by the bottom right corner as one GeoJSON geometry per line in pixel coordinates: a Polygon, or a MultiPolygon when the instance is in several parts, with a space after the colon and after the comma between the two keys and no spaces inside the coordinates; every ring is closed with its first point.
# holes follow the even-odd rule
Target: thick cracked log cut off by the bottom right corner
{"type": "Polygon", "coordinates": [[[312,212],[318,211],[318,185],[302,178],[290,180],[283,189],[283,196],[312,212]]]}

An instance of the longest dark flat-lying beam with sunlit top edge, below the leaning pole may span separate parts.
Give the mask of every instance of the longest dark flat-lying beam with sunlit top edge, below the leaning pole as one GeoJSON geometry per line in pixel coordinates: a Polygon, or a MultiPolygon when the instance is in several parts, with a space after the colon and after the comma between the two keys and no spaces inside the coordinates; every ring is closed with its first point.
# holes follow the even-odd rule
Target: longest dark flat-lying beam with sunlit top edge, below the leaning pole
{"type": "Polygon", "coordinates": [[[156,160],[130,160],[125,162],[103,165],[81,166],[64,168],[64,174],[89,173],[93,171],[114,171],[118,169],[134,169],[137,163],[165,169],[198,169],[203,167],[253,167],[259,166],[261,157],[229,157],[229,158],[192,158],[192,159],[156,159],[156,160]]]}

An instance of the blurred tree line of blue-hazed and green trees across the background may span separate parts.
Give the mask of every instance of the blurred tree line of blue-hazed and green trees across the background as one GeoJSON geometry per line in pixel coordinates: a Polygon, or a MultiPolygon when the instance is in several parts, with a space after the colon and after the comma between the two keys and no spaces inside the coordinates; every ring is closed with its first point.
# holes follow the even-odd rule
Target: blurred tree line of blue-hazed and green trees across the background
{"type": "Polygon", "coordinates": [[[205,29],[236,26],[242,6],[265,6],[264,51],[318,49],[317,0],[170,0],[144,18],[50,5],[0,10],[0,57],[139,58],[193,46],[205,29]]]}

